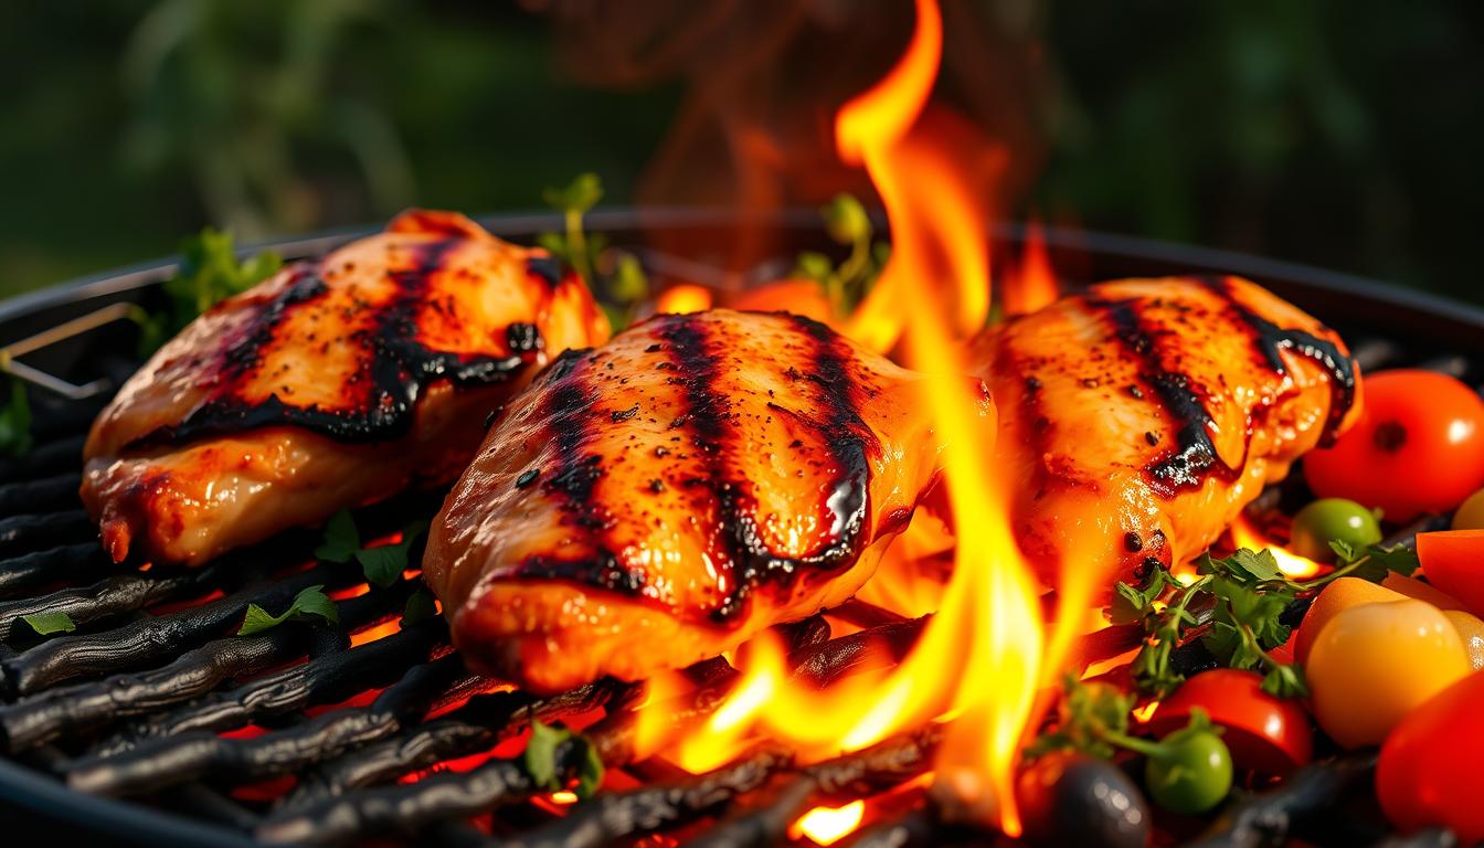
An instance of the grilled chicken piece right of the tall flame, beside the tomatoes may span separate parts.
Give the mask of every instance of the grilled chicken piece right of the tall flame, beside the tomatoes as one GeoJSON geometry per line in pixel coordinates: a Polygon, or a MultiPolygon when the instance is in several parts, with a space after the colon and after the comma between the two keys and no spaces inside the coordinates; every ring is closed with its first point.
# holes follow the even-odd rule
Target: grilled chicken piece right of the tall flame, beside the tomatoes
{"type": "Polygon", "coordinates": [[[990,328],[971,361],[1017,538],[1048,582],[1097,567],[1089,538],[1112,542],[1116,579],[1199,554],[1356,411],[1339,336],[1238,278],[1094,285],[990,328]]]}

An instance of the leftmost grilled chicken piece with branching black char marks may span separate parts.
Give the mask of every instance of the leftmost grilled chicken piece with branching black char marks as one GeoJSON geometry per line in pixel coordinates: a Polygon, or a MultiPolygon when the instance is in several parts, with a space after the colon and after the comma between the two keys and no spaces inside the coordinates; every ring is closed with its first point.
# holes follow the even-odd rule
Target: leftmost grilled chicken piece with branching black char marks
{"type": "Polygon", "coordinates": [[[83,503],[114,560],[197,564],[453,480],[491,410],[607,333],[545,252],[404,212],[165,345],[93,423],[83,503]]]}

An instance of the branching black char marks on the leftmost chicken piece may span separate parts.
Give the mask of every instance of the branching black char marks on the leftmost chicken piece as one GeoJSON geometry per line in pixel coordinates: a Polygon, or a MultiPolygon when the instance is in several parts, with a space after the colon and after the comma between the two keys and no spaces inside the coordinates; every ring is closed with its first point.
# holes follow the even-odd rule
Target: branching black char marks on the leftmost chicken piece
{"type": "MultiPolygon", "coordinates": [[[[246,342],[226,353],[223,386],[215,397],[186,416],[178,425],[157,428],[129,449],[183,444],[200,438],[230,435],[264,426],[300,426],[344,443],[386,441],[405,435],[413,426],[413,408],[423,388],[439,379],[456,386],[493,385],[509,380],[540,350],[540,334],[528,324],[506,330],[509,355],[481,356],[430,350],[418,340],[418,315],[426,304],[427,284],[462,239],[423,242],[413,248],[414,264],[390,272],[398,293],[381,307],[371,330],[352,336],[362,349],[370,380],[364,397],[349,408],[292,405],[278,394],[264,401],[242,399],[243,382],[261,365],[264,348],[295,306],[324,296],[328,288],[310,266],[303,276],[254,316],[246,342]],[[518,342],[518,345],[516,345],[518,342]]],[[[372,309],[367,304],[365,309],[372,309]]],[[[362,379],[353,374],[353,380],[362,379]]]]}

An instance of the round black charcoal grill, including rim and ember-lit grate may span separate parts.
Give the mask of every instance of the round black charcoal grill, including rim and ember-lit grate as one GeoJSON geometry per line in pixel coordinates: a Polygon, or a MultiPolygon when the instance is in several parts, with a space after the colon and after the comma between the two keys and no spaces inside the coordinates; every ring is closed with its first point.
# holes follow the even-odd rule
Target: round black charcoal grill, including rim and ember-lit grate
{"type": "MultiPolygon", "coordinates": [[[[482,223],[518,242],[559,227],[551,215],[482,223]]],[[[778,236],[776,257],[739,272],[720,258],[739,224],[730,214],[589,217],[589,229],[631,247],[657,285],[736,288],[779,276],[800,249],[830,248],[812,211],[761,223],[778,236]],[[644,247],[656,242],[683,247],[644,247]]],[[[264,247],[294,260],[358,235],[264,247]]],[[[1018,229],[997,230],[994,239],[996,255],[1018,254],[1018,229]]],[[[1465,380],[1484,377],[1475,368],[1484,362],[1480,309],[1220,251],[1055,230],[1046,242],[1067,287],[1119,276],[1238,273],[1336,327],[1362,368],[1420,365],[1465,380]]],[[[355,563],[313,563],[316,532],[283,533],[184,573],[108,563],[77,500],[82,440],[113,388],[139,364],[122,304],[157,304],[159,282],[172,269],[169,261],[150,263],[0,303],[0,346],[34,339],[18,352],[19,368],[50,388],[30,391],[36,447],[22,459],[0,459],[0,811],[47,820],[53,835],[147,845],[401,839],[577,847],[660,833],[763,845],[785,842],[787,824],[812,803],[881,792],[929,766],[936,741],[930,731],[807,768],[776,750],[699,778],[653,762],[623,765],[632,759],[634,686],[598,682],[554,698],[493,691],[464,671],[441,619],[392,624],[416,581],[346,597],[338,628],[289,624],[233,636],[248,603],[283,609],[307,585],[335,591],[362,582],[355,563]],[[67,612],[77,630],[40,639],[21,622],[22,615],[49,610],[67,612]],[[595,719],[586,734],[619,774],[604,795],[561,815],[542,802],[548,793],[531,786],[510,743],[531,719],[564,717],[595,719]],[[441,765],[460,760],[456,768],[441,765]]],[[[407,495],[361,511],[358,521],[401,526],[430,514],[439,498],[407,495]]],[[[800,673],[816,680],[847,673],[867,639],[905,650],[922,622],[856,624],[867,630],[837,639],[822,618],[785,627],[800,673]]],[[[1086,650],[1112,655],[1126,648],[1128,634],[1103,633],[1104,645],[1086,650]]],[[[692,676],[700,688],[677,720],[714,708],[732,670],[718,658],[692,676]]],[[[558,765],[573,754],[559,748],[558,765]]],[[[1367,802],[1370,768],[1365,757],[1316,765],[1233,805],[1202,844],[1257,845],[1288,835],[1334,845],[1383,839],[1385,824],[1367,802]]],[[[976,842],[936,823],[920,803],[898,806],[856,835],[856,844],[976,842]]],[[[1445,839],[1437,835],[1437,844],[1445,839]]]]}

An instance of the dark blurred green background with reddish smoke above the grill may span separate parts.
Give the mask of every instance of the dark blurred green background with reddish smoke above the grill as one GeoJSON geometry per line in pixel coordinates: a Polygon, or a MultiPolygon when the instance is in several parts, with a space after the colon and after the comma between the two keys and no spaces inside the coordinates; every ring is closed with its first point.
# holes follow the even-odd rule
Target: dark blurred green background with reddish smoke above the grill
{"type": "MultiPolygon", "coordinates": [[[[1484,301],[1481,6],[944,0],[941,100],[1009,151],[1002,217],[1484,301]]],[[[171,252],[528,209],[864,192],[830,116],[907,0],[0,4],[0,296],[171,252]]]]}

